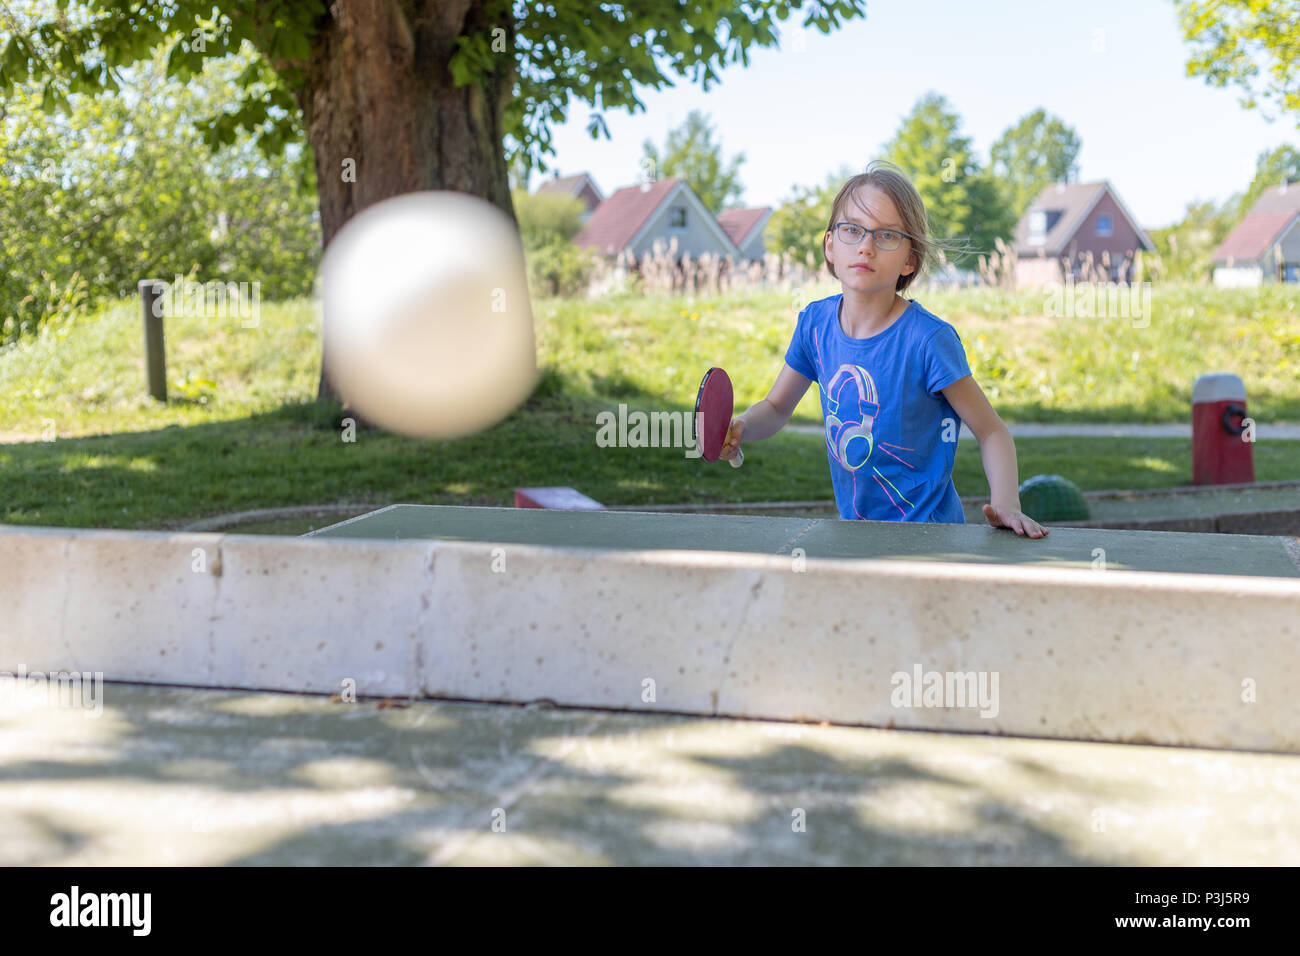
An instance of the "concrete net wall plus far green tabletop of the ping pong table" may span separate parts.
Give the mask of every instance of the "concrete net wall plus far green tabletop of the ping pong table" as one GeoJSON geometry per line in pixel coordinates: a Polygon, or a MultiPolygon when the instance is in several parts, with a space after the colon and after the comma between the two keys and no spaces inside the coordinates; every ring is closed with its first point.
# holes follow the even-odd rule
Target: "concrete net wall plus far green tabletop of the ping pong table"
{"type": "Polygon", "coordinates": [[[0,669],[1300,753],[1292,537],[395,505],[0,549],[0,669]]]}

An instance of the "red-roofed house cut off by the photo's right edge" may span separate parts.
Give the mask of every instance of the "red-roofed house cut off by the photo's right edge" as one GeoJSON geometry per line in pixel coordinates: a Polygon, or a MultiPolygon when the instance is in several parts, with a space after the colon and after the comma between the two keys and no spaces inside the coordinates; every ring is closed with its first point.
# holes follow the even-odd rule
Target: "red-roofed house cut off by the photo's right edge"
{"type": "Polygon", "coordinates": [[[1300,282],[1300,182],[1265,190],[1214,250],[1214,285],[1300,282]]]}

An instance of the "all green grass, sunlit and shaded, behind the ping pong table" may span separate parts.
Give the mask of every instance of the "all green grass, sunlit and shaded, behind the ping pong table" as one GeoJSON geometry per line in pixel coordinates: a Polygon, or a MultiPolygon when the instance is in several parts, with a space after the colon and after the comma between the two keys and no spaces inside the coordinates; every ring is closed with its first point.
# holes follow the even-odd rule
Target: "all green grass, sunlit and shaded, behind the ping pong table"
{"type": "MultiPolygon", "coordinates": [[[[338,407],[312,401],[309,302],[265,306],[255,329],[169,317],[168,377],[190,384],[160,406],[144,394],[139,306],[117,303],[0,351],[0,520],[166,528],[282,505],[508,505],[517,485],[573,485],[611,505],[831,498],[818,434],[748,446],[737,471],[680,449],[602,449],[595,433],[597,415],[620,402],[689,411],[710,364],[732,372],[740,407],[762,398],[798,307],[835,290],[538,302],[541,388],[499,425],[454,442],[364,428],[344,442],[338,407]]],[[[1295,289],[1157,287],[1147,328],[1045,319],[1041,295],[918,298],[957,326],[1009,421],[1186,421],[1192,381],[1219,369],[1243,376],[1256,420],[1300,420],[1295,289]]],[[[819,421],[815,389],[796,420],[819,421]]],[[[1086,490],[1191,481],[1190,444],[1176,438],[1020,440],[1017,454],[1022,480],[1057,472],[1086,490]]],[[[1261,481],[1297,479],[1300,442],[1261,442],[1254,460],[1261,481]]],[[[963,496],[988,493],[974,442],[959,446],[956,483],[963,496]]]]}

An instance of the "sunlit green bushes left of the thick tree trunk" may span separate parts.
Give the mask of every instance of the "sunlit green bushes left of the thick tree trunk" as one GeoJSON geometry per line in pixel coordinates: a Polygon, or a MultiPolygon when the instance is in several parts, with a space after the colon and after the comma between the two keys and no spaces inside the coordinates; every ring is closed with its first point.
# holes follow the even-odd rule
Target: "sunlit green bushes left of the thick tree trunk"
{"type": "Polygon", "coordinates": [[[311,293],[320,225],[299,187],[306,147],[266,159],[242,134],[212,153],[196,124],[234,96],[247,57],[188,83],[165,77],[165,57],[133,66],[122,95],[74,95],[66,116],[43,112],[38,81],[5,94],[0,342],[134,297],[142,278],[257,282],[265,300],[311,293]],[[133,96],[150,103],[147,121],[133,96]]]}

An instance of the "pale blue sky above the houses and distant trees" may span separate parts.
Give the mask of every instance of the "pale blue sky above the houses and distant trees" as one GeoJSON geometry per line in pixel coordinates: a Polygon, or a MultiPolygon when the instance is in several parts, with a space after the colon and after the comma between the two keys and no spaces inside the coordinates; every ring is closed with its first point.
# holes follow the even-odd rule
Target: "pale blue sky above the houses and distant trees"
{"type": "Polygon", "coordinates": [[[740,202],[775,207],[794,185],[864,166],[927,91],[946,98],[983,164],[1026,113],[1061,117],[1082,140],[1079,181],[1109,179],[1144,229],[1245,190],[1260,152],[1300,148],[1300,117],[1245,109],[1238,88],[1187,75],[1192,48],[1171,0],[868,0],[866,10],[829,35],[796,13],[780,49],[751,47],[749,66],[728,62],[708,92],[660,65],[675,86],[638,87],[644,112],[604,111],[610,139],[592,139],[593,107],[571,100],[532,187],[556,169],[589,172],[606,196],[630,186],[642,142],[662,148],[701,109],[723,157],[745,155],[740,202]]]}

